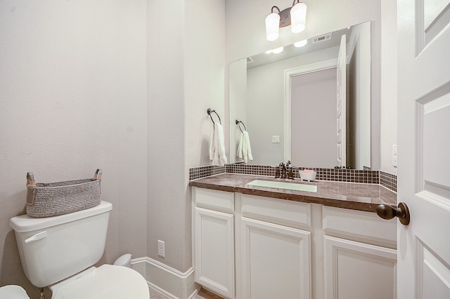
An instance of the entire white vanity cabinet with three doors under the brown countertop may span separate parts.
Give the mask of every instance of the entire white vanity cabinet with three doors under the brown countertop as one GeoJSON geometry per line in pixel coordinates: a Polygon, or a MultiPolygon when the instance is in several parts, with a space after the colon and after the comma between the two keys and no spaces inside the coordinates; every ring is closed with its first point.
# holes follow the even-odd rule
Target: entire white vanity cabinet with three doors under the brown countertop
{"type": "Polygon", "coordinates": [[[195,281],[225,298],[395,298],[396,225],[193,187],[195,281]]]}

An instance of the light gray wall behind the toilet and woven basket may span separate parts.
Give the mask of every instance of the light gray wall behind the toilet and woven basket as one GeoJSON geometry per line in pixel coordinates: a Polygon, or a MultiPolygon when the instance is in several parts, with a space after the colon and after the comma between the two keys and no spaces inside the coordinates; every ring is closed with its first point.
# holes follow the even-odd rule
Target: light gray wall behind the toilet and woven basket
{"type": "Polygon", "coordinates": [[[91,178],[113,204],[102,262],[146,255],[146,1],[0,1],[0,285],[25,278],[8,220],[25,175],[91,178]]]}

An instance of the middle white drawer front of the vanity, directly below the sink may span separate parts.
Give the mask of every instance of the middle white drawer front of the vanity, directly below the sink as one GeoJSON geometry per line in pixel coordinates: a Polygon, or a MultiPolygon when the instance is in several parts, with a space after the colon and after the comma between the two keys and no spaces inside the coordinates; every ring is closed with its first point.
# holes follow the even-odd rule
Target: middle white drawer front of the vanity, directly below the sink
{"type": "Polygon", "coordinates": [[[311,226],[311,204],[269,197],[243,194],[241,211],[244,217],[288,225],[291,227],[311,226]]]}

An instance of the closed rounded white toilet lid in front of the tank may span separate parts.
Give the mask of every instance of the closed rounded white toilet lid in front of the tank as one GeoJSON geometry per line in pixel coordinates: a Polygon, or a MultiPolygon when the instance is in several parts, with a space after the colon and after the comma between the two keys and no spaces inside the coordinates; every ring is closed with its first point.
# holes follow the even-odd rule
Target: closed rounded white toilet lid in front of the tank
{"type": "Polygon", "coordinates": [[[146,279],[128,267],[101,265],[94,271],[60,286],[54,299],[136,298],[148,299],[146,279]]]}

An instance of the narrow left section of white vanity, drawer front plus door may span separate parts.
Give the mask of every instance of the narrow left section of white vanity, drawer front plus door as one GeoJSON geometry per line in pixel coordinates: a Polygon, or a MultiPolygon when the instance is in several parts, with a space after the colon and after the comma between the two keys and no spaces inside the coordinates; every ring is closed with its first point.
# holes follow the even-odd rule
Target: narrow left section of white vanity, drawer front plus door
{"type": "Polygon", "coordinates": [[[193,188],[194,279],[234,298],[233,193],[193,188]]]}

